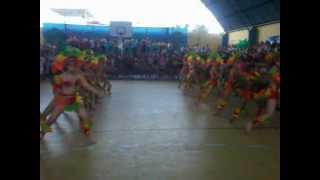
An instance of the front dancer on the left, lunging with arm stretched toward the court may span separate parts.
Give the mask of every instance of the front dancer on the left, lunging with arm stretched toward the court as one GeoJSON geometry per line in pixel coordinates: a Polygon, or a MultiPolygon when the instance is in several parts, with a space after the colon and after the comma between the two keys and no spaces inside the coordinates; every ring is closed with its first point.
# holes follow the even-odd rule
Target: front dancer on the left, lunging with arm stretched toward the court
{"type": "Polygon", "coordinates": [[[47,118],[46,114],[40,119],[41,139],[47,132],[51,132],[50,126],[65,111],[77,112],[83,133],[86,136],[90,135],[92,121],[83,105],[82,97],[77,92],[77,87],[81,86],[101,97],[103,92],[92,87],[81,74],[79,68],[82,63],[80,50],[72,47],[67,47],[55,58],[52,65],[54,98],[49,103],[50,107],[46,108],[46,113],[50,112],[50,116],[47,118]]]}

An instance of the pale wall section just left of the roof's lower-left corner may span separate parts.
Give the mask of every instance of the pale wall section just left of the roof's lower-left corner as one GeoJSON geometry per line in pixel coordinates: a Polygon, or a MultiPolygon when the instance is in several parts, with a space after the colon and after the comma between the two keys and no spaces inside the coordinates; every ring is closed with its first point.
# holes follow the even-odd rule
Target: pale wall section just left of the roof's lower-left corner
{"type": "Polygon", "coordinates": [[[188,33],[188,45],[200,45],[206,46],[213,50],[217,50],[218,46],[221,45],[222,36],[218,34],[204,34],[204,33],[188,33]]]}

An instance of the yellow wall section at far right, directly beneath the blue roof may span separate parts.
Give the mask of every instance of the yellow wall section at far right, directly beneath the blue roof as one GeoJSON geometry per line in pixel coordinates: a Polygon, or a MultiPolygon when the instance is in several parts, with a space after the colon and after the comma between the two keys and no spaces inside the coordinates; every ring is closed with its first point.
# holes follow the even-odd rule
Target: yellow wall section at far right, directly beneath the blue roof
{"type": "Polygon", "coordinates": [[[280,36],[280,23],[260,26],[258,29],[258,41],[266,41],[270,36],[280,36]]]}

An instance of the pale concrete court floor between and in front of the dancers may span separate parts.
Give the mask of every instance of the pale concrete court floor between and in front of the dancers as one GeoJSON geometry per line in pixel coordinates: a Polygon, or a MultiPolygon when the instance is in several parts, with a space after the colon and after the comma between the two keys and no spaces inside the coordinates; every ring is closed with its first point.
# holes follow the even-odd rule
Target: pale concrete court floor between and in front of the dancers
{"type": "MultiPolygon", "coordinates": [[[[230,124],[194,107],[177,82],[112,81],[93,112],[88,145],[74,114],[62,115],[40,142],[42,180],[277,180],[279,113],[246,135],[244,121],[230,124]]],[[[52,97],[40,83],[41,110],[52,97]]]]}

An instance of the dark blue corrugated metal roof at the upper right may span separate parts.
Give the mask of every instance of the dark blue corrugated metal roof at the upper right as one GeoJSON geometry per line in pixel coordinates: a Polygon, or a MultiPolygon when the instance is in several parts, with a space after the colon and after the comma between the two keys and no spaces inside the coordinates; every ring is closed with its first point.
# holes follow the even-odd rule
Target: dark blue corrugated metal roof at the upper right
{"type": "Polygon", "coordinates": [[[280,0],[202,0],[226,32],[280,21],[280,0]]]}

